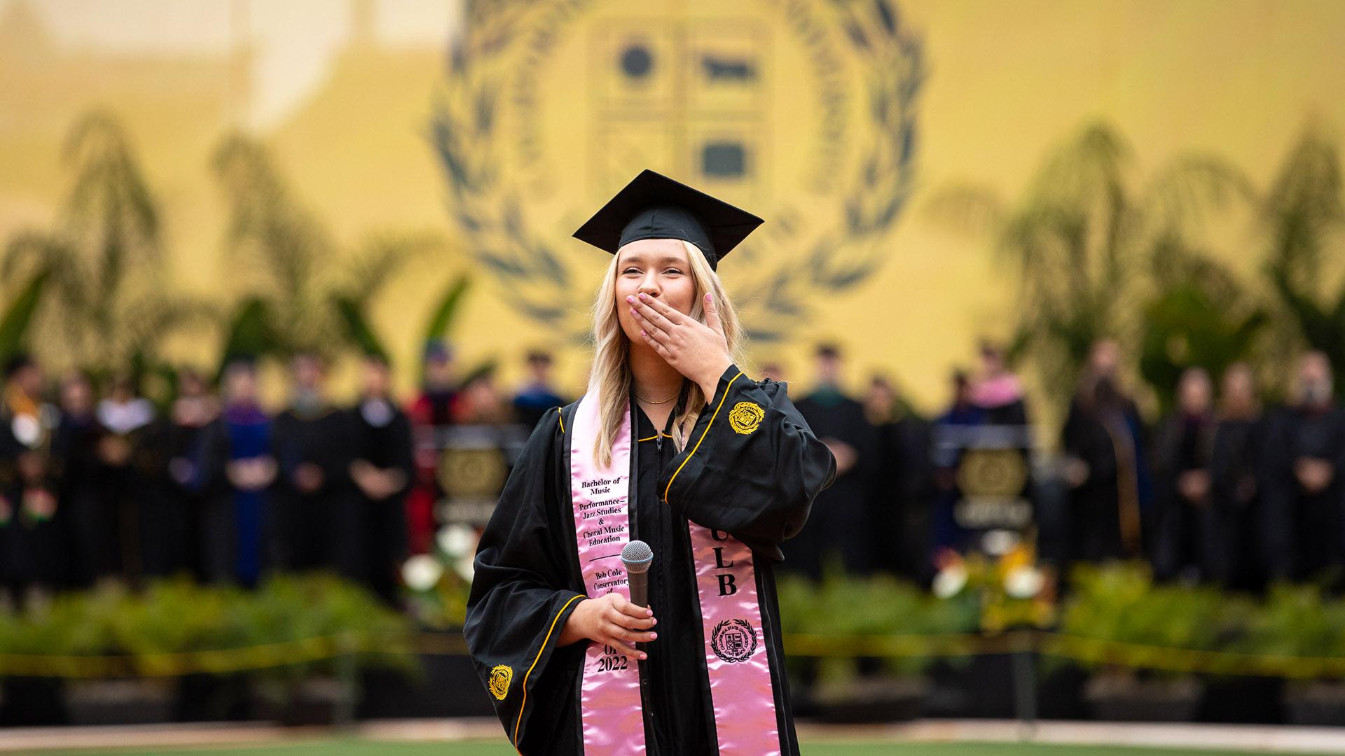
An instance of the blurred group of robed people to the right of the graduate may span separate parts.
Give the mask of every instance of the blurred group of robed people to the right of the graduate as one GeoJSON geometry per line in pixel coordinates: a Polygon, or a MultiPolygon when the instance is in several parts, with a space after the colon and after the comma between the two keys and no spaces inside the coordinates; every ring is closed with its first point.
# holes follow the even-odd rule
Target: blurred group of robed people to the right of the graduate
{"type": "MultiPolygon", "coordinates": [[[[838,565],[927,582],[940,552],[978,547],[979,533],[956,517],[963,452],[937,439],[1030,422],[1003,351],[983,344],[979,356],[974,374],[954,375],[947,410],[925,420],[881,377],[865,397],[846,397],[838,350],[818,350],[816,387],[795,395],[835,453],[838,479],[785,543],[785,569],[818,577],[838,565]]],[[[1093,344],[1056,452],[1024,451],[1034,459],[1026,535],[1044,562],[1146,560],[1159,580],[1237,591],[1345,577],[1345,410],[1326,355],[1303,354],[1290,395],[1272,406],[1263,406],[1248,365],[1217,377],[1217,393],[1215,377],[1189,369],[1155,424],[1141,417],[1120,367],[1116,342],[1093,344]]]]}

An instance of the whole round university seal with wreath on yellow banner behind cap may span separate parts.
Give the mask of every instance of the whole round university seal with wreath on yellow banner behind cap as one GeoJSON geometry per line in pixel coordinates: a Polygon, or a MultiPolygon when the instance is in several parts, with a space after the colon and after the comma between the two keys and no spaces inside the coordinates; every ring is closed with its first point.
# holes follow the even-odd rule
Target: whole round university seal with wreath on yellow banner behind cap
{"type": "Polygon", "coordinates": [[[894,0],[469,3],[430,139],[463,246],[551,332],[603,270],[570,233],[652,168],[767,218],[732,295],[775,340],[892,253],[924,77],[894,0]]]}

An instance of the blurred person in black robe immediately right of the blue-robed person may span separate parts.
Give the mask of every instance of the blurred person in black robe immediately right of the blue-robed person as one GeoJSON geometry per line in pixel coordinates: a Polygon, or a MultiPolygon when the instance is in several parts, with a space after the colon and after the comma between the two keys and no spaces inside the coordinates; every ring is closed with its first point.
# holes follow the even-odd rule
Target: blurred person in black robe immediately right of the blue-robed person
{"type": "Polygon", "coordinates": [[[364,573],[367,553],[359,529],[362,502],[350,479],[350,416],[323,391],[324,366],[316,354],[292,361],[293,394],[276,416],[274,514],[280,561],[286,569],[330,569],[352,580],[364,573]]]}

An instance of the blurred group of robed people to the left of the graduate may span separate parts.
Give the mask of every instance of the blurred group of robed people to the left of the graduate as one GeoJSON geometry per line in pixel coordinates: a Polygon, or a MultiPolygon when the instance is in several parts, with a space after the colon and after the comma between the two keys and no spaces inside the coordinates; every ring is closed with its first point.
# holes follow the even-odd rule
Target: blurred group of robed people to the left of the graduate
{"type": "Polygon", "coordinates": [[[229,363],[218,394],[198,371],[176,375],[156,406],[116,378],[102,395],[81,373],[48,383],[20,355],[0,401],[0,601],[139,584],[187,573],[253,587],[268,570],[332,570],[397,603],[398,570],[425,552],[443,498],[434,429],[535,424],[566,400],[550,356],[527,358],[512,398],[492,369],[460,378],[451,350],[430,344],[420,393],[402,404],[379,356],[340,405],[313,354],[289,365],[286,406],[268,412],[250,361],[229,363]]]}

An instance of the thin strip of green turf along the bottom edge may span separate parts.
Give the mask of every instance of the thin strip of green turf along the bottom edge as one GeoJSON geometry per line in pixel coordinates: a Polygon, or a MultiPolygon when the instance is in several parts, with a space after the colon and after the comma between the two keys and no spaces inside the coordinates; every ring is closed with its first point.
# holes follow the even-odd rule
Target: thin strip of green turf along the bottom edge
{"type": "MultiPolygon", "coordinates": [[[[42,756],[90,756],[132,751],[40,751],[42,756]]],[[[323,740],[295,745],[235,748],[192,748],[145,751],[145,756],[507,756],[514,753],[500,743],[386,743],[369,740],[323,740]]],[[[1171,748],[1111,748],[1087,745],[1032,745],[1009,743],[823,743],[804,741],[807,756],[1248,756],[1250,751],[1178,751],[1171,748]]]]}

